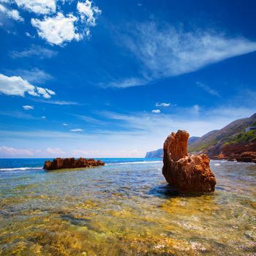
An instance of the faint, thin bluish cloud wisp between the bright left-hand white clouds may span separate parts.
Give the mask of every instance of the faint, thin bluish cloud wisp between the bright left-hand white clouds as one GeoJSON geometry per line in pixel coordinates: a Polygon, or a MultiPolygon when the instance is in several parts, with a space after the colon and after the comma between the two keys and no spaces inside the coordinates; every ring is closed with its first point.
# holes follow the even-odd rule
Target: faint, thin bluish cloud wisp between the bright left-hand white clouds
{"type": "Polygon", "coordinates": [[[31,48],[22,51],[12,51],[12,58],[24,58],[37,56],[39,59],[50,59],[56,56],[57,52],[39,45],[31,45],[31,48]]]}

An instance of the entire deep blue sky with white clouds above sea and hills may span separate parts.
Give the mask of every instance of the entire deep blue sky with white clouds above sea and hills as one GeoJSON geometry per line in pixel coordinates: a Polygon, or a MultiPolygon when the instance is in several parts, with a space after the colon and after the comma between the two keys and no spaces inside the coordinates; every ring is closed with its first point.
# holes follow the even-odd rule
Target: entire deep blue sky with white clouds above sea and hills
{"type": "Polygon", "coordinates": [[[256,1],[0,0],[0,157],[144,157],[256,112],[256,1]]]}

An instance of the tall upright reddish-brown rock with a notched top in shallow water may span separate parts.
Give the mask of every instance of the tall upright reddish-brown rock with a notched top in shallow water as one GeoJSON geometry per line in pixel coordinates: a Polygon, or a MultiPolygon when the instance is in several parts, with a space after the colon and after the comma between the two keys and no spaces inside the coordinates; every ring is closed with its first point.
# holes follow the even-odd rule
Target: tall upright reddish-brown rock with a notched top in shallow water
{"type": "Polygon", "coordinates": [[[188,155],[189,133],[172,132],[164,143],[162,174],[166,181],[181,193],[214,192],[216,178],[211,173],[206,154],[188,155]]]}

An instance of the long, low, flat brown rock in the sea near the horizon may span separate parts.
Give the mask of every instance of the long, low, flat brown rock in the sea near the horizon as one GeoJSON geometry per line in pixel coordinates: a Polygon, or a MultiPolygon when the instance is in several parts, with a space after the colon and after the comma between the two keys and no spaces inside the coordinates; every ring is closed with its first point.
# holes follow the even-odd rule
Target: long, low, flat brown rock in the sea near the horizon
{"type": "Polygon", "coordinates": [[[58,170],[58,169],[71,169],[71,168],[83,168],[83,167],[94,167],[99,165],[105,165],[104,162],[94,159],[85,158],[56,158],[53,161],[45,161],[45,170],[58,170]]]}

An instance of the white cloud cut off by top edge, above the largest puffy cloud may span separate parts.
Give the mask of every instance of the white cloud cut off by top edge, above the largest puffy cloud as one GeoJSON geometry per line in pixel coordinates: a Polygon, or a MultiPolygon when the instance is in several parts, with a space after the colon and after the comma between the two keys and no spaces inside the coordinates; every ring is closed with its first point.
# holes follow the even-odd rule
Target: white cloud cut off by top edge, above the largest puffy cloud
{"type": "Polygon", "coordinates": [[[56,0],[15,0],[18,7],[36,14],[50,14],[56,12],[56,0]]]}

